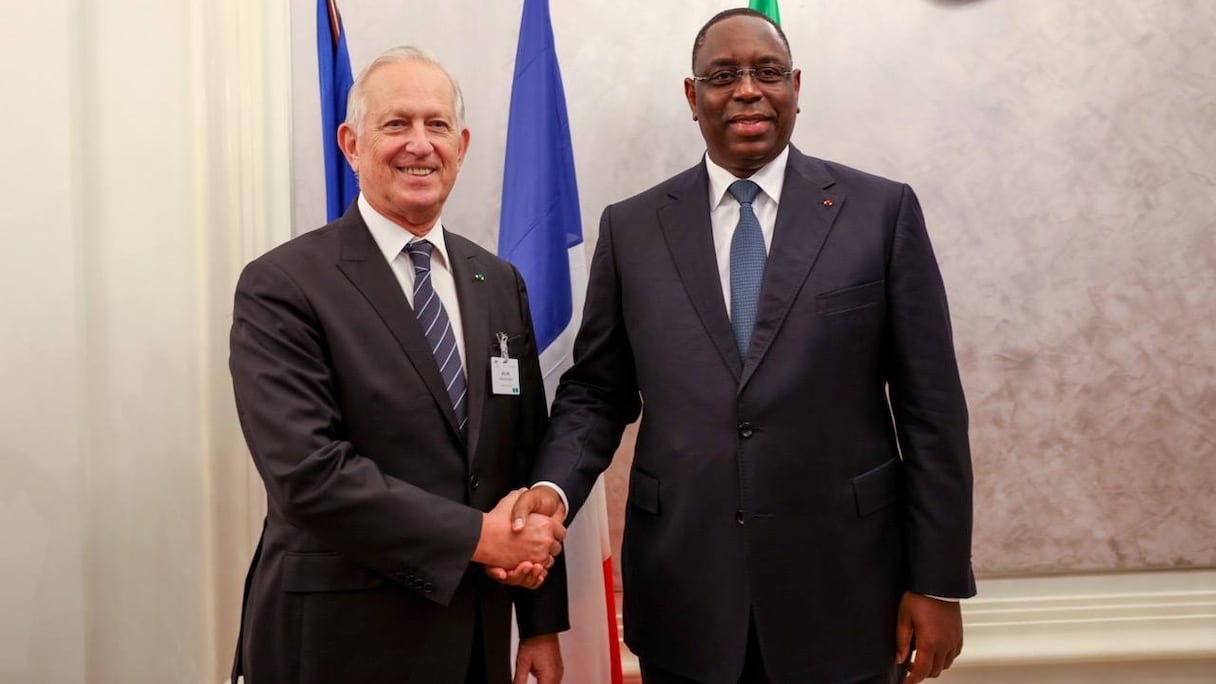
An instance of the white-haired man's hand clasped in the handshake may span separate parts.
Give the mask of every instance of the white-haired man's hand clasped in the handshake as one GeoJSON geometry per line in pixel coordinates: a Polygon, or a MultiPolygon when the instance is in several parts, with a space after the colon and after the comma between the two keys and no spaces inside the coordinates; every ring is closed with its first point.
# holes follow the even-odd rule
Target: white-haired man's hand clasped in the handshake
{"type": "MultiPolygon", "coordinates": [[[[527,494],[517,489],[507,494],[494,510],[482,514],[482,534],[473,550],[473,562],[486,567],[517,567],[530,562],[544,567],[562,553],[565,527],[546,515],[524,515],[522,525],[513,525],[513,506],[527,494]]],[[[553,494],[557,495],[556,493],[553,494]]]]}

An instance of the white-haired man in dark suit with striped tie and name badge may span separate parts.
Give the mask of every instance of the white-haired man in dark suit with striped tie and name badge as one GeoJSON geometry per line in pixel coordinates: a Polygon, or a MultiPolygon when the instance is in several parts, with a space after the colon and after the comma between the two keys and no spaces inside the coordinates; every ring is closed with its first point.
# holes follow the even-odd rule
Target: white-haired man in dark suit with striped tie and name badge
{"type": "Polygon", "coordinates": [[[462,110],[428,54],[378,57],[339,130],[358,202],[241,275],[232,381],[269,511],[233,682],[503,684],[512,605],[517,680],[561,679],[564,529],[512,533],[503,499],[545,425],[528,297],[440,219],[462,110]],[[520,562],[540,589],[484,572],[520,562]]]}

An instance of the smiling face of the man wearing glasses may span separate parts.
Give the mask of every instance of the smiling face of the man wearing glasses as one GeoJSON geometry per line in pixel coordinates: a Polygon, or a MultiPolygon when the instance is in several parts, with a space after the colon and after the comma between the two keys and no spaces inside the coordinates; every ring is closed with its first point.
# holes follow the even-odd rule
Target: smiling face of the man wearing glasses
{"type": "MultiPolygon", "coordinates": [[[[759,17],[725,18],[705,32],[693,60],[693,74],[731,67],[790,68],[789,50],[777,30],[759,17]]],[[[700,124],[709,158],[738,178],[771,162],[794,133],[801,72],[766,84],[743,77],[727,86],[685,79],[685,96],[700,124]]]]}

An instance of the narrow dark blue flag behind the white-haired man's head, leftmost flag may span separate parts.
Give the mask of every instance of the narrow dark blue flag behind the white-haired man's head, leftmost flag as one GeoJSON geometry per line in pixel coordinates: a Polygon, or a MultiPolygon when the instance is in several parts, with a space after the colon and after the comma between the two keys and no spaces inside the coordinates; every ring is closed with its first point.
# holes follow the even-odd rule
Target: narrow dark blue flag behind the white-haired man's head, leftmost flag
{"type": "Polygon", "coordinates": [[[354,79],[337,0],[316,0],[316,67],[321,79],[321,148],[325,151],[325,215],[333,220],[359,196],[355,173],[338,147],[354,79]]]}

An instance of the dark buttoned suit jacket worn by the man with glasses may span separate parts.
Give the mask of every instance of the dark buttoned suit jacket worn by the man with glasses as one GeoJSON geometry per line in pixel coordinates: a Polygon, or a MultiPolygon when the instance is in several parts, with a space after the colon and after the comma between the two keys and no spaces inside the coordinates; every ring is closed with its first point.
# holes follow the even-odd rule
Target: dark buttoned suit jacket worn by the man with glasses
{"type": "Polygon", "coordinates": [[[536,478],[576,511],[644,403],[625,638],[737,682],[889,671],[902,592],[974,593],[967,408],[946,296],[902,184],[790,148],[749,357],[717,276],[704,163],[601,222],[536,478]]]}

